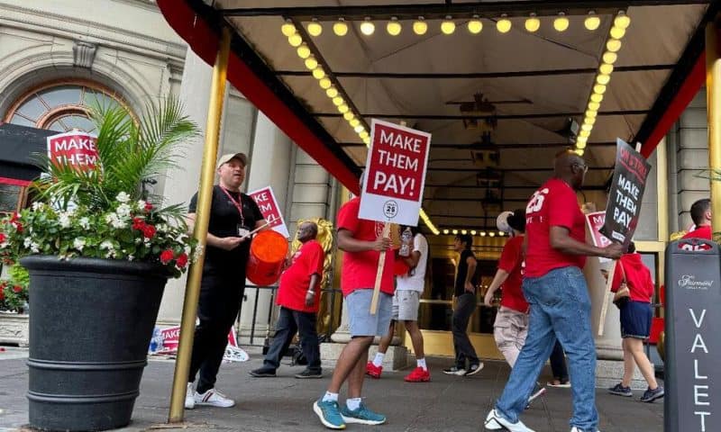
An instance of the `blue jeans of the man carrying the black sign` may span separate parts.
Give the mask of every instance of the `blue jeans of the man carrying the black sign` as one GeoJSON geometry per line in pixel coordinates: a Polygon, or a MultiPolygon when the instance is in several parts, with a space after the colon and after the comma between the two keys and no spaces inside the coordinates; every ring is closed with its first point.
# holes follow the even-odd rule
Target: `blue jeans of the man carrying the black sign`
{"type": "Polygon", "coordinates": [[[524,294],[531,305],[528,337],[511,370],[506,389],[496,402],[497,412],[516,422],[525,410],[535,380],[558,338],[569,359],[573,395],[570,426],[595,431],[596,347],[591,335],[591,302],[586,279],[578,267],[561,267],[541,277],[524,279],[524,294]]]}

